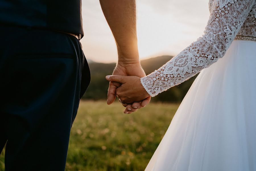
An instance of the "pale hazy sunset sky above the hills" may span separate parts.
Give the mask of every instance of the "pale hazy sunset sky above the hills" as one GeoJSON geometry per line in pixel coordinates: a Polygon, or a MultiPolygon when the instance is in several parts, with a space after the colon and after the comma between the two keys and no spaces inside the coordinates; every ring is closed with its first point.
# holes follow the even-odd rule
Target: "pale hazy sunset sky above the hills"
{"type": "MultiPolygon", "coordinates": [[[[203,35],[209,18],[206,0],[137,0],[137,36],[140,59],[177,55],[203,35]]],[[[115,40],[98,0],[82,0],[87,59],[117,61],[115,40]]]]}

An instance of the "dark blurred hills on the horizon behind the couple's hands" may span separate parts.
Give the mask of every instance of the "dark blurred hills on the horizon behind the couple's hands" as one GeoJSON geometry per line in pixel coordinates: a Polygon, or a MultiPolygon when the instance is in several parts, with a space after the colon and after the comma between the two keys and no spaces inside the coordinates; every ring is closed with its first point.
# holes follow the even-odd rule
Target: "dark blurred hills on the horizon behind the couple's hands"
{"type": "MultiPolygon", "coordinates": [[[[155,58],[149,58],[141,61],[141,66],[143,67],[146,74],[150,74],[154,70],[157,70],[166,62],[171,60],[173,56],[158,56],[155,58]]],[[[88,87],[86,93],[82,97],[83,99],[106,99],[107,91],[108,91],[108,82],[105,79],[105,76],[111,75],[114,68],[115,63],[103,64],[93,62],[92,60],[88,61],[91,71],[91,83],[88,87]]],[[[172,101],[172,102],[180,102],[183,97],[187,93],[189,87],[195,80],[194,76],[190,80],[180,84],[179,86],[175,86],[170,88],[168,91],[165,91],[158,96],[152,98],[153,101],[172,101]]]]}

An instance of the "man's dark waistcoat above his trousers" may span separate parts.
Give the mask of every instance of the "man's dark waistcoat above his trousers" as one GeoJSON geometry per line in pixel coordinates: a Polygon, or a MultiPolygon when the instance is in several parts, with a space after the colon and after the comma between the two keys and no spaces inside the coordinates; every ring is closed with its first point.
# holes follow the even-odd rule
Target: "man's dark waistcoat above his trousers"
{"type": "Polygon", "coordinates": [[[34,27],[83,36],[81,0],[0,0],[0,25],[34,27]]]}

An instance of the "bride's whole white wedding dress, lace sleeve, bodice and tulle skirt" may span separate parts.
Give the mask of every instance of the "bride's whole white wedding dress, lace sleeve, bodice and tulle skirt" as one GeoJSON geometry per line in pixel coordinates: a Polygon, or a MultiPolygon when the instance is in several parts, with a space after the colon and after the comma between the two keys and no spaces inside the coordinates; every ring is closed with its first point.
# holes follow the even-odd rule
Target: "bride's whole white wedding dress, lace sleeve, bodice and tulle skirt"
{"type": "Polygon", "coordinates": [[[156,96],[200,72],[146,170],[256,171],[256,1],[209,9],[205,34],[141,78],[156,96]]]}

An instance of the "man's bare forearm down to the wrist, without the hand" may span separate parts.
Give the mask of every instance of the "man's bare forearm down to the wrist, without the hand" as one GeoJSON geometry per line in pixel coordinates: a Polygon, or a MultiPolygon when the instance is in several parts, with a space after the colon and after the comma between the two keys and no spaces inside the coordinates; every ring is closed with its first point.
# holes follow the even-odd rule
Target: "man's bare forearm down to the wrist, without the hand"
{"type": "Polygon", "coordinates": [[[117,44],[118,62],[139,62],[135,0],[100,0],[117,44]]]}

